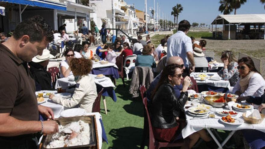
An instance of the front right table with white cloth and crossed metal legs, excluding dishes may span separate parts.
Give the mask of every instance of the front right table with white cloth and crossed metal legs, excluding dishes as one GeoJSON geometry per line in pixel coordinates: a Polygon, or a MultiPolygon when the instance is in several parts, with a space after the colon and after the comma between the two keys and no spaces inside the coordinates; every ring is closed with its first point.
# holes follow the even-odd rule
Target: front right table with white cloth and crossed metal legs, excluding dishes
{"type": "MultiPolygon", "coordinates": [[[[188,102],[186,106],[190,106],[191,101],[188,102]]],[[[199,104],[199,102],[195,103],[199,104]]],[[[216,111],[223,111],[226,108],[216,108],[216,111]]],[[[226,109],[227,110],[227,109],[226,109]]],[[[235,116],[236,118],[242,119],[242,114],[243,112],[235,110],[238,115],[235,116]]],[[[204,117],[192,117],[189,114],[187,114],[187,109],[185,108],[185,114],[186,114],[186,121],[187,121],[187,126],[182,129],[182,137],[186,138],[189,135],[191,135],[194,132],[197,132],[201,129],[206,128],[206,130],[209,132],[211,137],[214,139],[216,144],[219,146],[219,148],[222,148],[226,142],[232,137],[232,135],[235,133],[236,130],[241,130],[241,129],[256,129],[262,132],[265,132],[265,121],[263,120],[262,123],[260,124],[248,124],[248,123],[243,123],[242,125],[237,125],[237,126],[232,126],[232,125],[225,125],[222,123],[219,123],[219,119],[222,118],[222,116],[219,116],[216,114],[215,118],[208,118],[208,116],[204,117]],[[213,129],[221,129],[221,130],[230,130],[231,132],[227,136],[227,138],[220,144],[220,142],[217,140],[217,138],[214,136],[214,134],[211,132],[210,128],[213,129]]]]}

